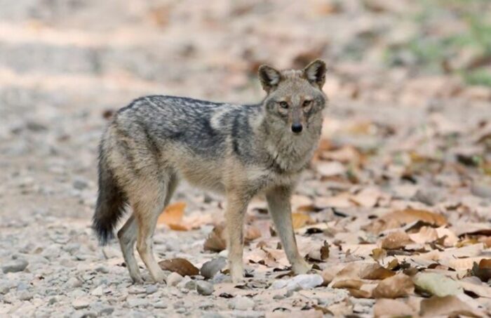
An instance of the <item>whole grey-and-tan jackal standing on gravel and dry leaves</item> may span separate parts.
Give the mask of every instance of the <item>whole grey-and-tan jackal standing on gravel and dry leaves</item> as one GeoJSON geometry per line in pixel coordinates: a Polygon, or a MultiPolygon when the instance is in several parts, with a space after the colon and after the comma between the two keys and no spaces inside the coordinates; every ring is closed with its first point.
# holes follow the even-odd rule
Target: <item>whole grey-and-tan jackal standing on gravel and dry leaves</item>
{"type": "Polygon", "coordinates": [[[259,76],[267,97],[257,105],[154,95],[115,114],[100,144],[93,227],[105,244],[126,205],[133,208],[118,237],[134,281],[142,281],[135,243],[152,278],[165,279],[152,236],[180,179],[226,197],[234,281],[243,277],[243,218],[257,194],[267,198],[293,270],[309,270],[297,251],[290,197],[321,135],[325,64],[316,60],[303,70],[282,72],[263,65],[259,76]]]}

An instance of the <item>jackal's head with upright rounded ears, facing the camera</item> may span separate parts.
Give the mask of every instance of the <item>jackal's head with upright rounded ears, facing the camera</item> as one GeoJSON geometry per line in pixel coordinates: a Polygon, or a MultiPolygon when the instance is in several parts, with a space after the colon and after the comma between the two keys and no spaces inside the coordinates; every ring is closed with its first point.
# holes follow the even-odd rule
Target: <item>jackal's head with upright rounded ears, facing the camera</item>
{"type": "Polygon", "coordinates": [[[285,133],[297,135],[321,121],[327,100],[322,91],[325,62],[315,60],[302,70],[285,71],[262,65],[259,78],[267,92],[263,102],[266,120],[276,131],[284,129],[285,133]]]}

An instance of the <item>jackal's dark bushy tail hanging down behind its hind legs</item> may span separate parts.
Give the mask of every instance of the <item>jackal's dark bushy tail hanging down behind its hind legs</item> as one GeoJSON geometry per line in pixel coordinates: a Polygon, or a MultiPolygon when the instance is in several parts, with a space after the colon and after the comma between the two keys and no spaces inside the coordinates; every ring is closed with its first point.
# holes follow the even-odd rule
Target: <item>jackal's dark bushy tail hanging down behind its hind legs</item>
{"type": "MultiPolygon", "coordinates": [[[[101,147],[102,148],[102,147],[101,147]]],[[[114,174],[100,152],[99,159],[99,194],[92,218],[92,228],[97,234],[99,243],[106,245],[114,237],[114,227],[123,216],[126,207],[126,194],[116,184],[114,174]]]]}

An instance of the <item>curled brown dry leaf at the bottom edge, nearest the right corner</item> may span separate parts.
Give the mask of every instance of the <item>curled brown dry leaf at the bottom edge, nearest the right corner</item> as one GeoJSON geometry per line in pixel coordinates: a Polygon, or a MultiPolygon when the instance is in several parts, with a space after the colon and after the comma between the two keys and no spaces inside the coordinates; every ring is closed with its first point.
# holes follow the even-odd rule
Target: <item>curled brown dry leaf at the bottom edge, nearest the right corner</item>
{"type": "Polygon", "coordinates": [[[424,317],[452,316],[459,314],[469,317],[482,317],[457,296],[433,296],[421,301],[419,314],[424,317]]]}

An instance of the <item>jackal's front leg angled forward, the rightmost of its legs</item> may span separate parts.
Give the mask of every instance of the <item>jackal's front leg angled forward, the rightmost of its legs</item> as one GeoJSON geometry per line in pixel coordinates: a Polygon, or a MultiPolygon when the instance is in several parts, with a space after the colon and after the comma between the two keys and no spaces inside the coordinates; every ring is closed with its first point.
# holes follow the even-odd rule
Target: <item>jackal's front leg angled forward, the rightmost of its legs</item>
{"type": "Polygon", "coordinates": [[[291,190],[288,187],[276,187],[266,194],[269,213],[273,218],[276,231],[285,250],[286,257],[292,265],[295,274],[304,274],[311,269],[297,249],[295,232],[292,225],[292,208],[290,205],[291,190]]]}

